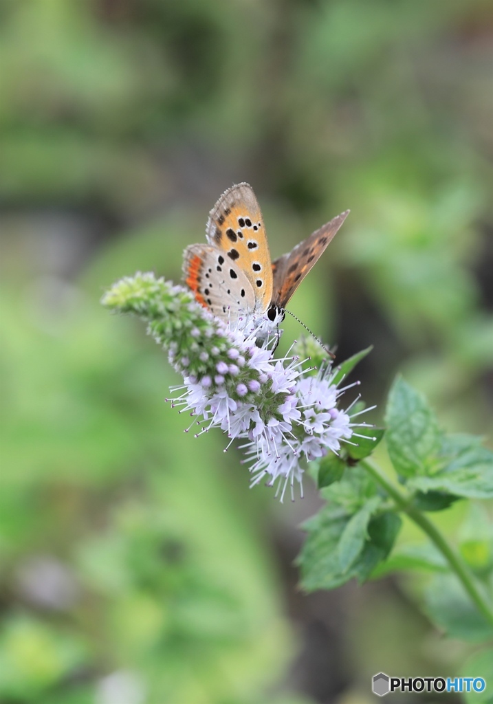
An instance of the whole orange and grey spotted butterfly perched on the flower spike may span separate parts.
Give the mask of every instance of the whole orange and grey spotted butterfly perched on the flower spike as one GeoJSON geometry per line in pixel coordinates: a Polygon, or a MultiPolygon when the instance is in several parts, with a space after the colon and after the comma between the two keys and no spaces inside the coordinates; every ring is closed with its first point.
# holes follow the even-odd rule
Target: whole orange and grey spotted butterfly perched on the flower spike
{"type": "Polygon", "coordinates": [[[347,218],[346,210],[271,263],[266,227],[254,190],[247,183],[227,189],[209,213],[208,244],[184,253],[185,283],[217,318],[237,322],[284,320],[294,291],[347,218]]]}

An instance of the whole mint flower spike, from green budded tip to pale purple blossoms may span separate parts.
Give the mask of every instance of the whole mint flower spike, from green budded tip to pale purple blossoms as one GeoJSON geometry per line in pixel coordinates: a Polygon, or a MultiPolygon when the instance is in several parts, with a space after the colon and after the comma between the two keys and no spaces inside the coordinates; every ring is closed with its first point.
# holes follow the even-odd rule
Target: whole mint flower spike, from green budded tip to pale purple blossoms
{"type": "Polygon", "coordinates": [[[314,375],[297,355],[273,358],[269,335],[257,346],[258,320],[227,325],[199,306],[190,291],[151,273],[121,279],[101,302],[139,315],[168,351],[183,376],[183,384],[173,389],[177,396],[168,400],[194,418],[187,432],[193,425],[196,435],[220,427],[230,439],[227,447],[244,440],[251,485],[264,478],[268,486],[276,483],[281,501],[288,486],[294,497],[294,482],[302,493],[306,460],[338,453],[354,425],[364,425],[352,422],[349,409],[337,407],[345,389],[334,384],[330,366],[314,375]]]}

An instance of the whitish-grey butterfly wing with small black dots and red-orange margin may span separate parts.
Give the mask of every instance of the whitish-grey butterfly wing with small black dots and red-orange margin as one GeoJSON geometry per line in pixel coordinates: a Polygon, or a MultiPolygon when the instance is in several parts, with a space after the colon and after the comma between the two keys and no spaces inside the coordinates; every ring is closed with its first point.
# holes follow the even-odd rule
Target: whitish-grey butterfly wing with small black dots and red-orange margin
{"type": "Polygon", "coordinates": [[[195,300],[217,318],[235,322],[242,315],[254,313],[255,295],[249,279],[216,246],[187,247],[183,273],[195,300]]]}

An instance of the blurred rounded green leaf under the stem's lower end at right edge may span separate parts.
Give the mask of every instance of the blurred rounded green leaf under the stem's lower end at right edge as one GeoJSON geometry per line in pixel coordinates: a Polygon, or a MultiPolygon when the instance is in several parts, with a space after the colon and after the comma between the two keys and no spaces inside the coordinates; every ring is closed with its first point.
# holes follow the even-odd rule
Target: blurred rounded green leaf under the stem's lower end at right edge
{"type": "Polygon", "coordinates": [[[492,624],[475,608],[454,574],[437,575],[425,592],[425,600],[428,616],[449,636],[474,643],[493,638],[492,624]]]}

